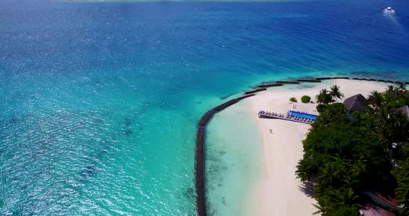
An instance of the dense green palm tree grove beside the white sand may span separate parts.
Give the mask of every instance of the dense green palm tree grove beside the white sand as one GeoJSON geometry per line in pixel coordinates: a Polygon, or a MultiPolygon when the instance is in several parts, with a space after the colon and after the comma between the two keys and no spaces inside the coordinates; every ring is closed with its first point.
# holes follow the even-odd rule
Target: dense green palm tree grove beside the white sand
{"type": "Polygon", "coordinates": [[[315,214],[358,216],[369,202],[363,192],[376,191],[397,192],[404,206],[395,213],[409,215],[409,123],[399,109],[409,105],[409,91],[403,84],[372,91],[365,111],[351,114],[333,102],[343,97],[338,86],[315,97],[320,116],[303,141],[297,165],[297,177],[313,185],[315,214]]]}

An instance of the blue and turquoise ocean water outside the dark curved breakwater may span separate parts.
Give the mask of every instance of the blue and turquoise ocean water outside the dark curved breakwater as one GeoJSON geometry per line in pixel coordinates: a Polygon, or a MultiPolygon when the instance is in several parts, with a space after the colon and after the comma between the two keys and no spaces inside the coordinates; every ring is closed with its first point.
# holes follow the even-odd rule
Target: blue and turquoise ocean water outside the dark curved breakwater
{"type": "Polygon", "coordinates": [[[409,81],[408,1],[0,1],[0,215],[195,215],[207,109],[350,74],[409,81]]]}

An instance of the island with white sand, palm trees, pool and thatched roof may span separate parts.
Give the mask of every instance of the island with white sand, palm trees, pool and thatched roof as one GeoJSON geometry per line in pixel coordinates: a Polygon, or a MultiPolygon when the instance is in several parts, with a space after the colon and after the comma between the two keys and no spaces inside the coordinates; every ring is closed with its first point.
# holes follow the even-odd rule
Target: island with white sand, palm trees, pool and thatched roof
{"type": "Polygon", "coordinates": [[[245,215],[409,215],[403,82],[272,87],[241,103],[261,136],[261,173],[245,215]]]}

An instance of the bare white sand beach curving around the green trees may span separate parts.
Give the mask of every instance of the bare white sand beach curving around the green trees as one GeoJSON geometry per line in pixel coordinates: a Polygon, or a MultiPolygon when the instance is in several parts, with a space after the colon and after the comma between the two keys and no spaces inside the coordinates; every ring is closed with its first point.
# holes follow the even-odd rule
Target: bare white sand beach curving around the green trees
{"type": "Polygon", "coordinates": [[[305,138],[310,125],[294,123],[278,119],[262,119],[257,116],[259,110],[274,111],[286,114],[293,109],[288,99],[296,97],[298,111],[317,114],[316,104],[303,104],[300,98],[304,95],[315,100],[320,89],[337,84],[345,98],[361,93],[363,96],[371,91],[384,91],[388,83],[368,82],[360,80],[327,80],[322,83],[308,84],[306,89],[297,89],[302,86],[286,85],[268,89],[246,99],[252,117],[259,127],[261,136],[261,174],[258,183],[254,184],[249,196],[247,215],[312,215],[315,200],[303,191],[302,184],[296,179],[295,167],[302,159],[302,140],[305,138]],[[272,134],[270,133],[272,129],[272,134]]]}

